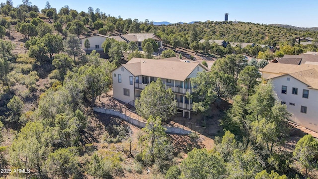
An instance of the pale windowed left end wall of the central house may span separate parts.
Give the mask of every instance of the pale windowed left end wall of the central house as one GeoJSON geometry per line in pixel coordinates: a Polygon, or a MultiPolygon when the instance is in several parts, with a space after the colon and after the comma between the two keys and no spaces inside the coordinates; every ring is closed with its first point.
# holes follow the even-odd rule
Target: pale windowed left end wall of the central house
{"type": "Polygon", "coordinates": [[[121,71],[122,66],[118,67],[112,72],[113,78],[113,96],[116,99],[119,99],[123,102],[130,102],[135,100],[135,88],[134,81],[133,85],[129,84],[129,77],[134,77],[127,69],[123,68],[124,71],[121,71]],[[114,77],[116,74],[116,77],[114,77]],[[121,83],[118,83],[118,75],[121,75],[121,83]],[[129,89],[129,96],[124,95],[124,88],[129,89]]]}

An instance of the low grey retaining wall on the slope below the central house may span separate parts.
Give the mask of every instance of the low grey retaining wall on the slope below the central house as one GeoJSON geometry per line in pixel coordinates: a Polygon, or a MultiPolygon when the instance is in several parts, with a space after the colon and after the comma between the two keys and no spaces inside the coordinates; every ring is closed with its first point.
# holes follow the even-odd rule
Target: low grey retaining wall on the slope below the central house
{"type": "MultiPolygon", "coordinates": [[[[127,121],[128,123],[133,124],[133,125],[140,127],[140,128],[144,128],[146,126],[146,122],[140,121],[138,119],[134,119],[130,116],[127,116],[124,113],[121,113],[119,111],[115,111],[113,109],[105,109],[105,108],[101,108],[101,107],[94,107],[93,109],[95,112],[100,112],[100,113],[110,114],[110,115],[120,117],[120,118],[124,119],[125,121],[127,121]]],[[[166,133],[174,133],[174,134],[189,134],[189,133],[191,133],[191,131],[181,129],[179,127],[169,127],[169,126],[163,126],[163,127],[166,128],[166,131],[165,131],[166,133]]]]}

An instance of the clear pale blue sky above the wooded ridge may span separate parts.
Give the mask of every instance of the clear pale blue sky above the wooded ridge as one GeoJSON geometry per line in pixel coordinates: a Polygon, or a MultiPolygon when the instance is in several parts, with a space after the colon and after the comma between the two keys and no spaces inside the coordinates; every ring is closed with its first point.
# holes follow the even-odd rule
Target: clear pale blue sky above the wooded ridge
{"type": "MultiPolygon", "coordinates": [[[[5,0],[0,0],[5,2],[5,0]]],[[[22,0],[12,0],[17,6],[22,0]]],[[[29,0],[40,9],[46,0],[29,0]]],[[[191,22],[229,20],[253,23],[279,23],[298,27],[318,27],[318,0],[48,0],[59,10],[64,5],[79,12],[93,9],[126,19],[191,22]]]]}

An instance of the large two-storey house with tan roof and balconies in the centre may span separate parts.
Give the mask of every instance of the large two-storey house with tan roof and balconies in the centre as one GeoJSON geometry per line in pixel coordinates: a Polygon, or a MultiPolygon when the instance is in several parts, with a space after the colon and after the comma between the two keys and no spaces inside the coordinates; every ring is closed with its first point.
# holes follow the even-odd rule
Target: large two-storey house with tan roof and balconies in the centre
{"type": "Polygon", "coordinates": [[[160,78],[165,89],[172,89],[177,101],[177,109],[182,116],[192,111],[192,100],[185,95],[192,93],[190,79],[199,72],[209,71],[200,63],[185,63],[176,57],[166,59],[133,58],[127,64],[122,64],[112,72],[113,96],[125,103],[135,105],[141,91],[152,81],[160,78]]]}

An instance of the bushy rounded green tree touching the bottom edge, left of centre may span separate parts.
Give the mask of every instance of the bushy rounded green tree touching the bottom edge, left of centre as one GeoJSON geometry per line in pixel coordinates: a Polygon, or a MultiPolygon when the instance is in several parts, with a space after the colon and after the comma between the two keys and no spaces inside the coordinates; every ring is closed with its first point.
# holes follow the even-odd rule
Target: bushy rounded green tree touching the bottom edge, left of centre
{"type": "Polygon", "coordinates": [[[68,179],[79,174],[79,163],[75,147],[61,148],[50,153],[45,162],[49,176],[68,179]]]}

